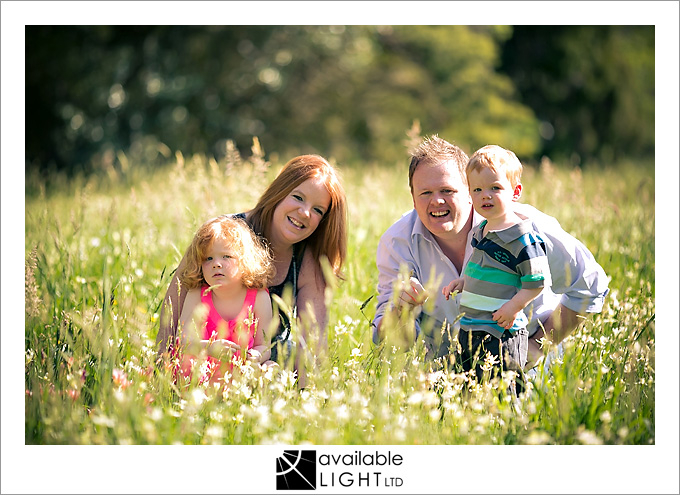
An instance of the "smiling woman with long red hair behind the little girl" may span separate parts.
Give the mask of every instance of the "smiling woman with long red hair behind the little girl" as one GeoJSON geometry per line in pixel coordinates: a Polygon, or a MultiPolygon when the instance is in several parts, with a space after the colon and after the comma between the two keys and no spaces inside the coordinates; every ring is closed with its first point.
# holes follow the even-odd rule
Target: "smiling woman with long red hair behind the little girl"
{"type": "MultiPolygon", "coordinates": [[[[281,296],[291,287],[293,303],[299,308],[298,319],[307,321],[308,307],[318,322],[320,339],[325,339],[328,311],[324,302],[326,282],[321,258],[330,263],[335,276],[347,253],[347,212],[345,191],[337,171],[322,157],[303,155],[290,160],[262,194],[255,208],[235,215],[243,218],[271,249],[275,274],[269,293],[281,296]]],[[[156,342],[159,353],[168,350],[177,335],[187,289],[178,283],[186,255],[182,258],[161,309],[156,342]]],[[[290,343],[290,322],[279,312],[281,324],[275,341],[290,343]]],[[[303,332],[308,329],[302,326],[303,332]]],[[[303,335],[304,337],[304,335],[303,335]]],[[[272,360],[277,359],[272,348],[272,360]]]]}

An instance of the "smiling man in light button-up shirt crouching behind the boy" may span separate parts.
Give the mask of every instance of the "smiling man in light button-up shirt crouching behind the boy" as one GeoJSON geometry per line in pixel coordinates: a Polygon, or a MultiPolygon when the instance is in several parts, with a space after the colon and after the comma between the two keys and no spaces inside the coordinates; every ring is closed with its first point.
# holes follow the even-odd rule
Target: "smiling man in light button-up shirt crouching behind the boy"
{"type": "MultiPolygon", "coordinates": [[[[449,336],[458,330],[460,299],[447,301],[442,287],[462,275],[472,254],[472,228],[483,220],[472,208],[467,162],[460,148],[437,136],[425,139],[412,152],[409,186],[414,209],[397,220],[378,244],[375,343],[398,331],[394,325],[388,328],[386,315],[398,315],[407,308],[417,314],[415,331],[428,353],[433,357],[450,353],[449,336]],[[400,273],[405,272],[410,280],[397,287],[400,273]],[[392,297],[395,290],[397,303],[392,297]]],[[[564,340],[578,326],[579,315],[602,310],[609,289],[607,276],[590,251],[557,220],[529,205],[515,205],[515,212],[531,219],[541,234],[552,278],[551,287],[525,309],[529,317],[527,368],[531,368],[543,355],[541,339],[555,344],[564,340]]]]}

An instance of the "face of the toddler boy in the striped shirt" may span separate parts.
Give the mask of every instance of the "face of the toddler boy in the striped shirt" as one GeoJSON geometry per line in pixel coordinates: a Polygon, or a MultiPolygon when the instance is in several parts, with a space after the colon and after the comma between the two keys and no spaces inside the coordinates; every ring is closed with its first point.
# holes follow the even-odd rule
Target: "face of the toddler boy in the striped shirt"
{"type": "Polygon", "coordinates": [[[487,220],[503,219],[514,212],[512,203],[522,193],[522,184],[513,188],[505,173],[489,168],[472,170],[468,174],[468,182],[472,206],[487,220]]]}

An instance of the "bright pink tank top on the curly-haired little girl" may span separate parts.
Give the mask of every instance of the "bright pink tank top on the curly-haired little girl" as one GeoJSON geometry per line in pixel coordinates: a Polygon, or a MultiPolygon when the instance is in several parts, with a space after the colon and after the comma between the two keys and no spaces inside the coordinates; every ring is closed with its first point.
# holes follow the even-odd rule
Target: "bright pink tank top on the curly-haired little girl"
{"type": "Polygon", "coordinates": [[[247,324],[245,320],[248,319],[249,314],[253,318],[252,313],[255,311],[255,299],[257,298],[257,289],[248,289],[246,292],[246,298],[243,301],[243,306],[241,311],[233,320],[225,320],[220,316],[220,314],[215,309],[215,305],[212,300],[212,293],[208,291],[208,287],[203,287],[201,289],[201,302],[204,303],[208,309],[208,317],[205,322],[205,329],[203,332],[203,338],[209,339],[213,333],[216,333],[216,337],[220,339],[227,339],[241,344],[242,347],[247,347],[248,349],[253,348],[255,341],[255,322],[249,321],[247,324]],[[241,336],[237,335],[238,323],[244,323],[242,326],[243,331],[247,331],[247,335],[241,336]],[[247,346],[244,346],[247,342],[247,346]]]}

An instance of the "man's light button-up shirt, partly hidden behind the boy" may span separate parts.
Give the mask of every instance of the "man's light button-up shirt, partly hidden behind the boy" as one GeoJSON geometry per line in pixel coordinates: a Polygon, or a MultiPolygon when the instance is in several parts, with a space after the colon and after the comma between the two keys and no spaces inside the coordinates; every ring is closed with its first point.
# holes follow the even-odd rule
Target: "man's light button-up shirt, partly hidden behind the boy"
{"type": "MultiPolygon", "coordinates": [[[[550,265],[552,285],[526,307],[529,318],[529,335],[538,328],[538,321],[545,321],[559,303],[577,313],[599,313],[602,311],[607,295],[608,278],[602,267],[595,261],[592,253],[583,243],[562,229],[559,222],[533,206],[516,203],[518,215],[529,218],[533,228],[545,242],[546,254],[550,265]]],[[[473,213],[473,227],[482,222],[483,217],[473,213]]],[[[472,246],[468,234],[465,248],[465,263],[470,259],[472,246]]],[[[460,312],[460,294],[455,300],[448,301],[442,295],[442,288],[461,274],[451,260],[442,252],[432,233],[425,228],[415,210],[405,213],[380,238],[376,258],[378,267],[378,300],[373,319],[373,341],[378,342],[377,325],[392,299],[392,286],[397,281],[400,267],[412,273],[428,289],[430,300],[423,307],[416,321],[416,331],[420,332],[423,318],[432,318],[432,325],[423,327],[424,333],[439,333],[449,325],[458,330],[456,319],[460,312]],[[452,324],[452,322],[455,322],[452,324]]],[[[431,339],[433,335],[424,335],[431,339]]]]}

